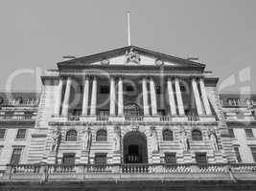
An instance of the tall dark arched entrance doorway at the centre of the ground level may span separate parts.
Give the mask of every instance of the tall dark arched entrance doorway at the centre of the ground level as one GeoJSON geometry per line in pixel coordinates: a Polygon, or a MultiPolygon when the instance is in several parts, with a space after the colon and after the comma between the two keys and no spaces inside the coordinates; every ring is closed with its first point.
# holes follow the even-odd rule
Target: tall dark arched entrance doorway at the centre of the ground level
{"type": "Polygon", "coordinates": [[[130,132],[124,138],[124,162],[147,163],[147,139],[140,132],[130,132]]]}

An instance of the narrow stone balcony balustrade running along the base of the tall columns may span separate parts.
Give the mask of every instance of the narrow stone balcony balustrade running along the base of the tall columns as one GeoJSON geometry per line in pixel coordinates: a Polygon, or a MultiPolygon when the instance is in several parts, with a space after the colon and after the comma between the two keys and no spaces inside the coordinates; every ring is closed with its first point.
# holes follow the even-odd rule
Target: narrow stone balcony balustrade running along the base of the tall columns
{"type": "Polygon", "coordinates": [[[51,124],[53,123],[216,123],[215,116],[52,116],[51,124]]]}

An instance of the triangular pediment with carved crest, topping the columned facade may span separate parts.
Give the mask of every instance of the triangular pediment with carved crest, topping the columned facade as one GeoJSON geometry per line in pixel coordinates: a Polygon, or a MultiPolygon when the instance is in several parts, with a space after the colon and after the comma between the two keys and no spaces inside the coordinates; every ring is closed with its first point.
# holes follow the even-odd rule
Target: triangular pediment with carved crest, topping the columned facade
{"type": "Polygon", "coordinates": [[[147,49],[129,46],[58,62],[58,67],[72,65],[123,65],[123,66],[170,66],[178,68],[198,68],[203,70],[205,65],[188,59],[157,53],[147,49]]]}

